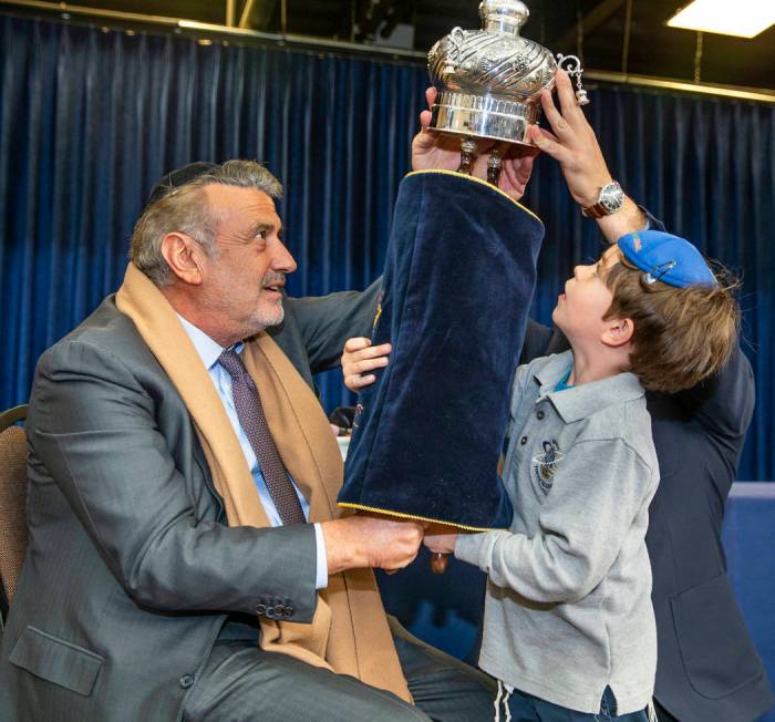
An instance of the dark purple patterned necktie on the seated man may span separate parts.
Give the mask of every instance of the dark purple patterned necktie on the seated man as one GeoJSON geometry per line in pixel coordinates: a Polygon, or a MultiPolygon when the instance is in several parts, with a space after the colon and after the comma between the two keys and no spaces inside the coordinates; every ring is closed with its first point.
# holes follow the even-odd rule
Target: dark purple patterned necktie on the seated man
{"type": "Polygon", "coordinates": [[[275,502],[282,524],[303,524],[307,519],[301,509],[299,496],[275,445],[256,384],[234,349],[224,351],[218,357],[218,363],[231,377],[237,417],[256,453],[269,496],[275,502]]]}

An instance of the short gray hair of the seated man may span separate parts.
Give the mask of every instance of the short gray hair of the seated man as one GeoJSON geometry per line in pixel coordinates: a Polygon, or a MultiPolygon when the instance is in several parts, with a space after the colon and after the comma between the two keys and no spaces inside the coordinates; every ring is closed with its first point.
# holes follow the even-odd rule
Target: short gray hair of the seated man
{"type": "Polygon", "coordinates": [[[192,236],[210,258],[216,256],[216,224],[202,192],[209,184],[256,188],[270,198],[282,197],[282,184],[256,161],[227,161],[182,186],[170,186],[168,195],[145,207],[130,247],[130,260],[156,286],[169,282],[169,267],[162,255],[162,239],[167,234],[192,236]]]}

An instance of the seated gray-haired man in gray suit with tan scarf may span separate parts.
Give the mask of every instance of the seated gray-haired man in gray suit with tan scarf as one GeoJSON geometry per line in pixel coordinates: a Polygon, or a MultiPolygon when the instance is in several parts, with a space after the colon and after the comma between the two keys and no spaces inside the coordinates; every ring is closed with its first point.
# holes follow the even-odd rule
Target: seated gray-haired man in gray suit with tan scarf
{"type": "Polygon", "coordinates": [[[343,331],[292,305],[304,375],[262,332],[296,269],[280,190],[241,161],[165,177],[118,293],[41,358],[2,719],[488,714],[483,675],[384,617],[370,567],[409,564],[421,527],[334,514],[341,460],[304,375],[343,331]]]}

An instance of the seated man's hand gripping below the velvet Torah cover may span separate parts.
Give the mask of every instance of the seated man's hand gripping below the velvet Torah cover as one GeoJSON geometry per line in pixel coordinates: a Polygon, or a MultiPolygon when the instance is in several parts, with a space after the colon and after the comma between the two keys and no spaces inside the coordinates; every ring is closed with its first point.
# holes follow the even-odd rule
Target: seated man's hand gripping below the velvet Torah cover
{"type": "Polygon", "coordinates": [[[358,514],[321,524],[329,574],[361,567],[402,569],[414,560],[423,540],[423,525],[358,514]]]}

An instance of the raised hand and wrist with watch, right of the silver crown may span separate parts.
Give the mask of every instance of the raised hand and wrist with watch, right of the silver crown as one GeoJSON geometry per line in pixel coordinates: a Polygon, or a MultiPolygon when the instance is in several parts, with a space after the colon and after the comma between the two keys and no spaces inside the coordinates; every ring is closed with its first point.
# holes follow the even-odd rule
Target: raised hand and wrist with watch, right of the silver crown
{"type": "MultiPolygon", "coordinates": [[[[574,200],[581,208],[588,208],[597,203],[600,188],[613,178],[595,131],[576,101],[568,73],[558,70],[555,78],[560,110],[555,106],[549,91],[541,92],[544,114],[554,134],[531,125],[530,140],[560,164],[574,200]]],[[[641,209],[626,197],[624,205],[610,216],[598,218],[598,225],[608,241],[616,243],[628,233],[642,230],[647,219],[641,209]]]]}

